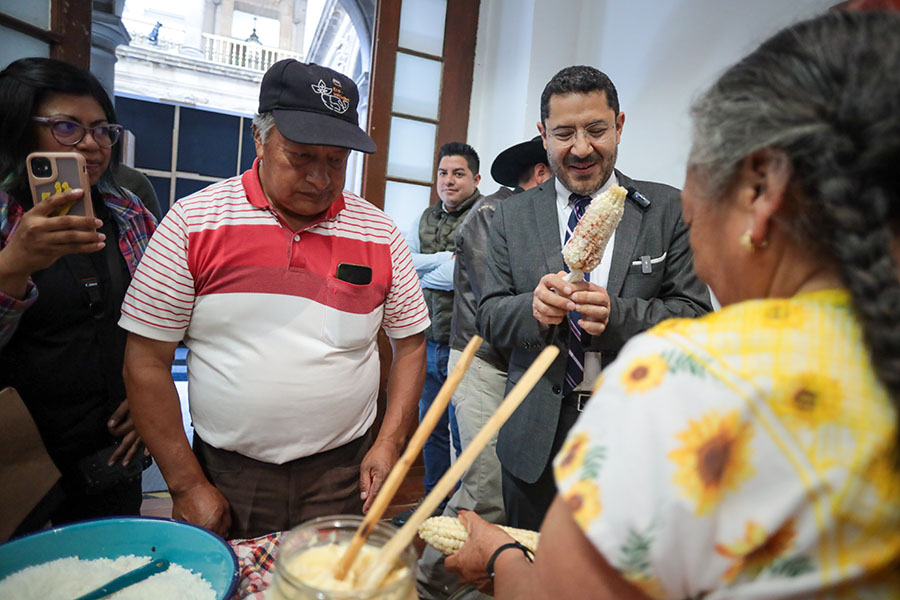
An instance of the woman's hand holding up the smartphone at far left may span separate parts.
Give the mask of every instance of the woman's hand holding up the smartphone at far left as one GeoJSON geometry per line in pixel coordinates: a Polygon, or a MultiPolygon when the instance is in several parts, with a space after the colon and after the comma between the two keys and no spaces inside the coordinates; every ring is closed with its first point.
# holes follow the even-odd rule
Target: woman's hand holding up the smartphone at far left
{"type": "Polygon", "coordinates": [[[106,236],[96,231],[103,224],[100,219],[53,216],[55,211],[83,196],[81,189],[60,192],[22,215],[15,233],[0,252],[0,272],[27,279],[61,256],[102,249],[106,236]]]}

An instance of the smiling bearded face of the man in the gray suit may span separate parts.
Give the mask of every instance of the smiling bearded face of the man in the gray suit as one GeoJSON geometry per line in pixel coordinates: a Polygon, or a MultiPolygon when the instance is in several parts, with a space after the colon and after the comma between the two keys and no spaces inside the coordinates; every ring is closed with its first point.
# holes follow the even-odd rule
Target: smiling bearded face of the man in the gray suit
{"type": "Polygon", "coordinates": [[[604,92],[553,95],[538,130],[553,174],[585,196],[603,187],[616,166],[625,113],[609,107],[604,92]]]}

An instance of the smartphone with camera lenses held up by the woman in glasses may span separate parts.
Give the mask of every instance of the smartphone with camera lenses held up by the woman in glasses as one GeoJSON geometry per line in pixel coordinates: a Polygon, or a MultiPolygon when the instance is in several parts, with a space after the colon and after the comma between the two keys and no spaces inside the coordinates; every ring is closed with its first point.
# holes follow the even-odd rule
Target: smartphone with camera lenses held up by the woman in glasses
{"type": "Polygon", "coordinates": [[[83,156],[77,152],[32,152],[25,159],[25,164],[28,169],[31,199],[35,205],[54,194],[81,188],[84,190],[84,196],[61,207],[53,214],[94,216],[94,207],[91,204],[91,180],[83,156]]]}

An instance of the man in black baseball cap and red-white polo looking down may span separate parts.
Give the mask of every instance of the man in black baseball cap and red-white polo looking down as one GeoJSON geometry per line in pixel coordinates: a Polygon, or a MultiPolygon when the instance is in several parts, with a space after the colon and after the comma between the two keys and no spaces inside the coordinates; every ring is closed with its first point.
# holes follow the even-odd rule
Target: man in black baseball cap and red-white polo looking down
{"type": "Polygon", "coordinates": [[[416,418],[429,324],[394,223],[343,190],[350,151],[375,151],[353,81],[283,60],[259,99],[252,168],[170,209],[120,321],[173,516],[240,538],[368,509],[416,418]],[[375,430],[380,329],[393,363],[375,430]],[[170,372],[181,341],[193,449],[170,372]]]}

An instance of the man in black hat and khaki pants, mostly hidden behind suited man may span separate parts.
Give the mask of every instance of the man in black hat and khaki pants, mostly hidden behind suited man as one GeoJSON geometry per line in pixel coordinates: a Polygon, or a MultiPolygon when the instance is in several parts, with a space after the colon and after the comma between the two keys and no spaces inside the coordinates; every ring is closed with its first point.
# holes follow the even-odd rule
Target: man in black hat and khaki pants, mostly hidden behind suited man
{"type": "MultiPolygon", "coordinates": [[[[466,344],[478,333],[475,310],[487,270],[488,233],[494,211],[506,198],[540,185],[551,177],[541,136],[498,154],[491,165],[491,177],[509,187],[501,187],[479,200],[456,230],[449,369],[453,369],[466,344]]],[[[463,450],[503,400],[507,360],[507,353],[487,341],[483,342],[453,394],[451,403],[463,450]]],[[[460,510],[473,510],[491,523],[504,522],[502,478],[500,461],[494,449],[496,444],[495,435],[463,474],[459,487],[444,508],[444,515],[455,517],[460,510]]],[[[446,598],[459,585],[456,575],[444,569],[443,555],[431,546],[425,547],[419,561],[418,579],[419,597],[426,599],[446,598]]],[[[477,592],[473,594],[478,595],[477,592]]]]}

